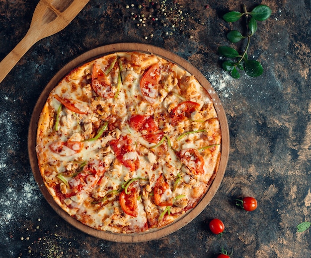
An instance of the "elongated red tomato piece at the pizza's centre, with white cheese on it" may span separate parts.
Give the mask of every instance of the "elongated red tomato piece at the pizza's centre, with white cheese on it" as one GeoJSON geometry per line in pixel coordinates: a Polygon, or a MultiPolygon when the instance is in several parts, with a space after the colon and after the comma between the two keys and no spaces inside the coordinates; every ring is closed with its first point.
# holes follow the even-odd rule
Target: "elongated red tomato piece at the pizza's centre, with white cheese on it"
{"type": "Polygon", "coordinates": [[[130,171],[135,171],[139,168],[140,162],[138,155],[131,146],[132,140],[127,136],[121,136],[118,140],[112,140],[110,146],[115,152],[117,159],[122,165],[130,171]]]}

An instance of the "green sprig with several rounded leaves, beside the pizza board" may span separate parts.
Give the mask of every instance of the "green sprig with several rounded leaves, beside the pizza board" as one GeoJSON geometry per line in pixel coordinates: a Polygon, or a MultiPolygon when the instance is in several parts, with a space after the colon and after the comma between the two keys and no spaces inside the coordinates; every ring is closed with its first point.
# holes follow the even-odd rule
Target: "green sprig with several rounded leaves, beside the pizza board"
{"type": "Polygon", "coordinates": [[[235,79],[240,77],[238,70],[244,70],[246,74],[251,77],[257,77],[263,73],[263,68],[260,62],[248,59],[247,50],[250,45],[250,38],[257,31],[257,21],[268,19],[272,13],[272,10],[264,4],[257,5],[251,11],[247,11],[245,4],[243,4],[243,11],[243,13],[238,11],[228,12],[223,16],[223,19],[227,22],[235,22],[242,16],[245,16],[247,34],[243,36],[242,33],[237,30],[230,31],[227,34],[227,39],[232,43],[247,39],[245,50],[242,54],[239,54],[235,49],[227,46],[221,46],[218,48],[218,52],[222,56],[229,58],[223,62],[223,69],[230,72],[231,76],[235,79]]]}

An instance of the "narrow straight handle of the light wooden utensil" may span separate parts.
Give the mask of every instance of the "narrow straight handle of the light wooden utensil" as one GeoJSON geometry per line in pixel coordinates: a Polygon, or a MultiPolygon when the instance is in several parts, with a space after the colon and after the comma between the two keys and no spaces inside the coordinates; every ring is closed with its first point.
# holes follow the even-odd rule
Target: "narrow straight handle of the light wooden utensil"
{"type": "Polygon", "coordinates": [[[12,70],[20,58],[37,42],[37,37],[29,30],[25,37],[0,62],[0,83],[12,70]]]}

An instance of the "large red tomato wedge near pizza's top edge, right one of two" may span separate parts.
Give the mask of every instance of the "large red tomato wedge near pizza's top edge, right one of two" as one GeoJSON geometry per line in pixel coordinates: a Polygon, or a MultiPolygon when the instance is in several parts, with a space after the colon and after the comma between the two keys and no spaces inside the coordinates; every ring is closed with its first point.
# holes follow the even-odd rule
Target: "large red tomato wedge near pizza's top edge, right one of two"
{"type": "Polygon", "coordinates": [[[158,82],[160,78],[159,64],[151,66],[143,75],[140,87],[143,96],[150,103],[155,103],[158,94],[158,82]]]}

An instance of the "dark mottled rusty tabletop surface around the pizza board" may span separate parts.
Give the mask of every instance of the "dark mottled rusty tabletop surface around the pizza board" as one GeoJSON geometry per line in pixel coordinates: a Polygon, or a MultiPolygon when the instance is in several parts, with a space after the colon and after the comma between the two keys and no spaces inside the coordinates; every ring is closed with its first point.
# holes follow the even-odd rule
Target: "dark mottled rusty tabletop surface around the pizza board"
{"type": "MultiPolygon", "coordinates": [[[[26,34],[37,2],[0,0],[0,59],[26,34]]],[[[267,4],[273,13],[259,22],[248,52],[261,61],[263,75],[242,73],[238,80],[221,69],[217,48],[230,45],[229,29],[240,28],[221,18],[241,10],[240,2],[157,2],[164,8],[158,14],[148,0],[90,0],[66,29],[35,44],[0,84],[1,258],[216,258],[221,246],[233,249],[234,258],[311,257],[311,230],[296,232],[297,224],[311,221],[310,1],[244,1],[249,9],[267,4]],[[146,26],[140,17],[133,20],[141,14],[146,26]],[[79,54],[120,42],[162,47],[196,66],[225,107],[231,137],[228,168],[210,205],[179,231],[139,244],[99,240],[67,224],[38,190],[27,154],[32,109],[48,81],[79,54]],[[232,204],[245,195],[257,198],[255,211],[232,204]],[[226,226],[221,239],[204,223],[214,217],[226,226]]]]}

